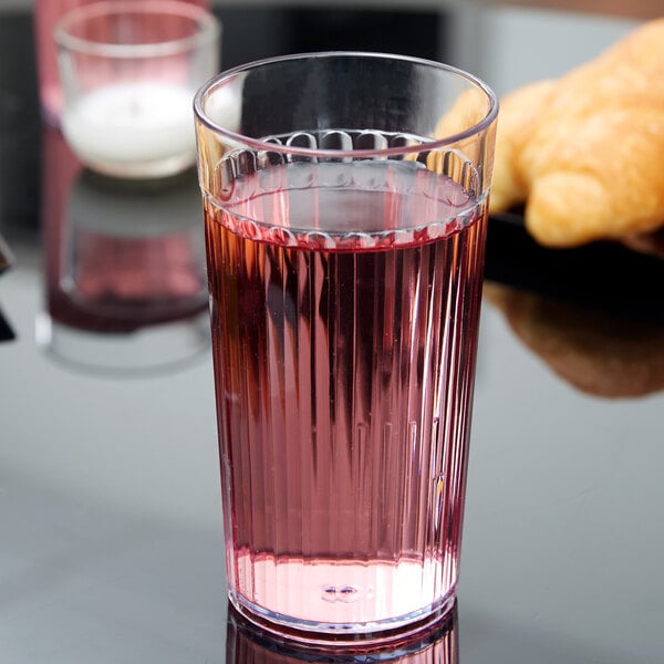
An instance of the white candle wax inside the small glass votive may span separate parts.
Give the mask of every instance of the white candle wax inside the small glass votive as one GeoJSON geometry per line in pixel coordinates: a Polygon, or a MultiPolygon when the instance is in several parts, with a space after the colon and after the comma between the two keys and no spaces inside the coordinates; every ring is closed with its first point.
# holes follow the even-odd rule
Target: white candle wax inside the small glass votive
{"type": "Polygon", "coordinates": [[[164,175],[195,160],[194,91],[169,83],[117,83],[81,95],[62,116],[79,158],[113,175],[164,175]]]}

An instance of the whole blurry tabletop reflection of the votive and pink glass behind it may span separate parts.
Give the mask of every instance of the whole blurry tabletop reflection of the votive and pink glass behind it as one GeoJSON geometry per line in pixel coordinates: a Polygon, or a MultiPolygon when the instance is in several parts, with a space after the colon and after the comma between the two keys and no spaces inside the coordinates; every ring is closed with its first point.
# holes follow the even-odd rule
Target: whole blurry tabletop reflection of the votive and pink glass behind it
{"type": "Polygon", "coordinates": [[[91,370],[142,371],[208,347],[207,280],[196,176],[117,180],[80,170],[44,135],[49,317],[38,339],[91,370]],[[69,193],[69,196],[68,194],[69,193]]]}

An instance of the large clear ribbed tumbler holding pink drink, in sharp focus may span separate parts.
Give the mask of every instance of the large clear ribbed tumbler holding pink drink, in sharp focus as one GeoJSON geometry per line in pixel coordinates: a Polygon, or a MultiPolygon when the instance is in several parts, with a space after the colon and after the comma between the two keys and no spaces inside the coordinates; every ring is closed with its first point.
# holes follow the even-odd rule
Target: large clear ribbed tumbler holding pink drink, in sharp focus
{"type": "Polygon", "coordinates": [[[457,583],[496,100],[319,53],[195,107],[230,598],[305,641],[423,629],[457,583]]]}

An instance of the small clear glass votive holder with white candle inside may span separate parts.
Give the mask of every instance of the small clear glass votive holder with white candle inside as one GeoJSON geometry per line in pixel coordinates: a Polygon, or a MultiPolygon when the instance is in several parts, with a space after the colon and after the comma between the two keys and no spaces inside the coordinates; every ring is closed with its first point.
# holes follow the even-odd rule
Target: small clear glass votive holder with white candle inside
{"type": "Polygon", "coordinates": [[[196,158],[191,103],[219,64],[220,24],[179,0],[94,2],[58,23],[62,131],[79,159],[123,178],[196,158]]]}

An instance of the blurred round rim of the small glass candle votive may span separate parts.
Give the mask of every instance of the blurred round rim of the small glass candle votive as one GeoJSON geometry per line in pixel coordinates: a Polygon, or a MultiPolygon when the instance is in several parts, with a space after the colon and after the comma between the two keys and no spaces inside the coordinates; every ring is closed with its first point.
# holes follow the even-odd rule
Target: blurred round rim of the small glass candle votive
{"type": "Polygon", "coordinates": [[[53,30],[53,39],[58,46],[86,55],[114,59],[164,58],[186,53],[204,43],[219,38],[221,24],[217,18],[203,7],[181,2],[180,0],[121,0],[110,2],[101,0],[70,10],[61,17],[53,30]],[[83,21],[100,17],[122,17],[127,12],[146,17],[180,17],[189,19],[197,25],[196,31],[187,37],[165,41],[145,43],[121,43],[113,41],[95,41],[71,34],[71,29],[83,21]]]}

